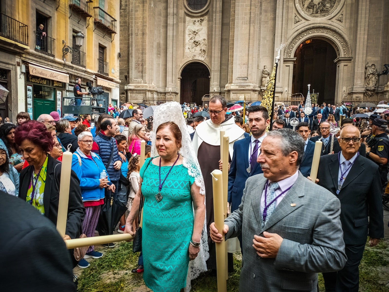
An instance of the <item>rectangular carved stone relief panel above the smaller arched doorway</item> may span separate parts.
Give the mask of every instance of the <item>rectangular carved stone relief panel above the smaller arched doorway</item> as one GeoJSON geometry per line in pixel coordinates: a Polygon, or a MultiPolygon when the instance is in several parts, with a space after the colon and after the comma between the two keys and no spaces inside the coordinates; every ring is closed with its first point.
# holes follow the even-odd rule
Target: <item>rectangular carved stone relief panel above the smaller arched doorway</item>
{"type": "Polygon", "coordinates": [[[186,16],[185,56],[192,60],[207,57],[207,17],[190,18],[186,16]]]}

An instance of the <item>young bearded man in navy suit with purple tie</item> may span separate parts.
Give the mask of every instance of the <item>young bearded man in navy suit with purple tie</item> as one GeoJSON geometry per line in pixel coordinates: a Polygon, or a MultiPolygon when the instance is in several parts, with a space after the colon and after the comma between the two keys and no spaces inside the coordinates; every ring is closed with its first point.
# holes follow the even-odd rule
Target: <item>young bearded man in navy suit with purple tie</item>
{"type": "MultiPolygon", "coordinates": [[[[237,210],[242,201],[247,178],[262,173],[257,158],[266,137],[266,127],[270,124],[269,113],[263,106],[251,106],[248,113],[251,136],[235,141],[228,174],[228,204],[231,205],[231,212],[237,210]]],[[[242,235],[238,239],[242,248],[242,235]]]]}

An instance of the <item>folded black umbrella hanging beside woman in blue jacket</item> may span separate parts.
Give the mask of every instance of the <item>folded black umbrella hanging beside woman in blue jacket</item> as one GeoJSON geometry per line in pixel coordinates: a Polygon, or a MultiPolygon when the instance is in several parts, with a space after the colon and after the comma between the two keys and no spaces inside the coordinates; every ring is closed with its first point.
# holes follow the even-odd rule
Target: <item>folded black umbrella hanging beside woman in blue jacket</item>
{"type": "Polygon", "coordinates": [[[126,205],[120,202],[119,199],[114,198],[111,205],[111,198],[105,197],[105,203],[100,209],[100,216],[97,223],[99,235],[111,235],[114,233],[117,222],[119,222],[120,217],[126,210],[126,205]]]}

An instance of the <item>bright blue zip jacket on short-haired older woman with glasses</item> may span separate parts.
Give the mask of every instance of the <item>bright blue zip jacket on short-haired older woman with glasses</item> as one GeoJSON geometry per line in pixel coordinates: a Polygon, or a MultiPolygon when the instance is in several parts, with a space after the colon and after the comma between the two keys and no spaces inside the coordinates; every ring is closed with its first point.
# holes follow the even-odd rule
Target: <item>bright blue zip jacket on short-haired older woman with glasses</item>
{"type": "MultiPolygon", "coordinates": [[[[100,172],[105,169],[105,166],[101,158],[91,152],[93,159],[86,157],[84,153],[77,148],[73,153],[72,158],[72,170],[77,174],[80,180],[81,197],[82,201],[99,201],[104,198],[104,188],[99,188],[100,185],[100,172]],[[81,166],[79,165],[79,159],[81,158],[81,166]]],[[[108,180],[109,176],[108,176],[108,180]]],[[[111,185],[111,183],[109,183],[111,185]]]]}

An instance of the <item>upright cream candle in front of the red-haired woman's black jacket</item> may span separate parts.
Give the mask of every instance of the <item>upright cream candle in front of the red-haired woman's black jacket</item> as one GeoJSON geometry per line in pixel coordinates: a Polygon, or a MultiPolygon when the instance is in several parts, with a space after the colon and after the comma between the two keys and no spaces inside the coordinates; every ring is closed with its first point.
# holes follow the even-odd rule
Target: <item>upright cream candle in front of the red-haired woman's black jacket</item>
{"type": "Polygon", "coordinates": [[[66,222],[68,218],[70,171],[72,170],[72,157],[70,151],[62,155],[60,198],[58,201],[57,230],[62,237],[65,236],[66,222]]]}

